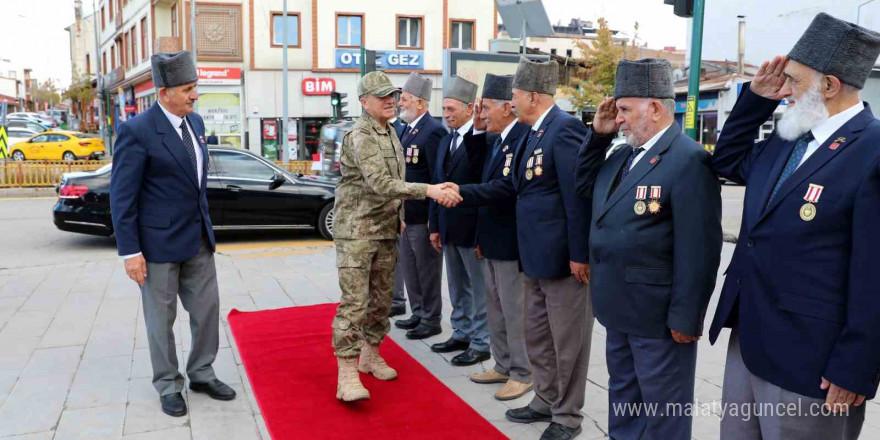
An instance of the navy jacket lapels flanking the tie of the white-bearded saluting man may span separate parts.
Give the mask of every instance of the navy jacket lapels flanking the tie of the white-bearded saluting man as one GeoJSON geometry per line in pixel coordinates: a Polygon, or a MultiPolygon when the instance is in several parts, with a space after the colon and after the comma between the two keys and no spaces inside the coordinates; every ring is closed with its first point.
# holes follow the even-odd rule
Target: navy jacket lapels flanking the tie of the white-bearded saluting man
{"type": "MultiPolygon", "coordinates": [[[[847,145],[851,144],[853,141],[858,139],[858,133],[861,132],[866,125],[870,121],[874,119],[874,115],[871,113],[871,109],[865,104],[865,109],[859,112],[856,116],[854,116],[851,120],[847,121],[843,126],[841,126],[836,132],[834,132],[831,137],[825,140],[822,145],[819,146],[819,149],[816,150],[809,158],[807,158],[804,163],[799,166],[794,173],[792,173],[789,178],[782,183],[782,186],[779,188],[779,192],[776,194],[776,197],[770,202],[770,205],[767,206],[767,209],[761,214],[761,218],[758,219],[759,223],[763,220],[767,215],[773,211],[774,208],[779,206],[782,199],[785,198],[789,193],[794,191],[804,180],[808,177],[819,171],[825,164],[831,161],[838,153],[840,153],[847,145]],[[836,143],[837,145],[834,149],[831,148],[831,145],[836,143]]],[[[790,149],[786,149],[789,151],[790,149]]],[[[788,155],[783,154],[782,156],[785,159],[777,159],[777,166],[779,162],[788,162],[788,155]]],[[[783,165],[784,166],[784,165],[783,165]]],[[[775,171],[776,167],[774,167],[775,171]]],[[[778,174],[771,173],[771,176],[778,176],[778,174]]],[[[773,186],[776,184],[776,180],[773,180],[773,184],[768,184],[767,187],[772,191],[773,186]]],[[[769,183],[769,182],[768,182],[769,183]]],[[[767,195],[769,197],[769,195],[767,195]]],[[[764,203],[766,204],[766,198],[764,199],[764,203]]],[[[762,205],[764,206],[764,205],[762,205]]]]}

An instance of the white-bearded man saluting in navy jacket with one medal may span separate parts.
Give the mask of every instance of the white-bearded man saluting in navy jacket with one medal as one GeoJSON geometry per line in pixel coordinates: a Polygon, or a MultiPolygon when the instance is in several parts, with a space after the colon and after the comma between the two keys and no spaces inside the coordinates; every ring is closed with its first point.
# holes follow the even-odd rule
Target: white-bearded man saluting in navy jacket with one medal
{"type": "Polygon", "coordinates": [[[733,330],[722,402],[800,411],[725,414],[722,439],[855,439],[877,392],[880,121],[859,90],[878,55],[880,34],[819,14],[724,125],[713,164],[746,196],[709,333],[733,330]]]}

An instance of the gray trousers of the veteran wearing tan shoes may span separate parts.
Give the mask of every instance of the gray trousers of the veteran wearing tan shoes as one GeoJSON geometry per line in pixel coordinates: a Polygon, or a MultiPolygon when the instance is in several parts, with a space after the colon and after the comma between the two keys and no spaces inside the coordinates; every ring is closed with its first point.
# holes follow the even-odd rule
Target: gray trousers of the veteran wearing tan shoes
{"type": "Polygon", "coordinates": [[[521,383],[532,382],[526,354],[526,316],[522,274],[516,260],[483,259],[489,342],[495,371],[521,383]]]}

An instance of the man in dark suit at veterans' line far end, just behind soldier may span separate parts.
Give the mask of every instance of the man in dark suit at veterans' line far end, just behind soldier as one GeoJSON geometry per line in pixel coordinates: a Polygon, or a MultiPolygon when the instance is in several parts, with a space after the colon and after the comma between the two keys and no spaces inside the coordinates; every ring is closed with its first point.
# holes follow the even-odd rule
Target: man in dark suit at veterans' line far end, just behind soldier
{"type": "MultiPolygon", "coordinates": [[[[431,183],[437,146],[447,132],[428,112],[432,82],[410,73],[400,96],[400,119],[406,122],[400,144],[406,158],[406,181],[431,183]]],[[[441,271],[443,254],[431,246],[428,232],[428,200],[406,200],[405,226],[400,234],[397,265],[406,282],[412,316],[394,323],[408,330],[409,339],[440,334],[441,271]]]]}

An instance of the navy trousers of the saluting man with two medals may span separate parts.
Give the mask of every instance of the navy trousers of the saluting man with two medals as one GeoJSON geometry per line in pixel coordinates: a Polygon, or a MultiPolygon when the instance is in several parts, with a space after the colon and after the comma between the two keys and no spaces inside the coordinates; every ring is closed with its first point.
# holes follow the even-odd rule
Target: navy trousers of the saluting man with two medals
{"type": "Polygon", "coordinates": [[[697,343],[679,344],[671,335],[645,338],[605,330],[608,435],[690,440],[693,417],[687,409],[694,403],[697,343]],[[644,405],[656,405],[657,411],[649,414],[644,405]]]}

